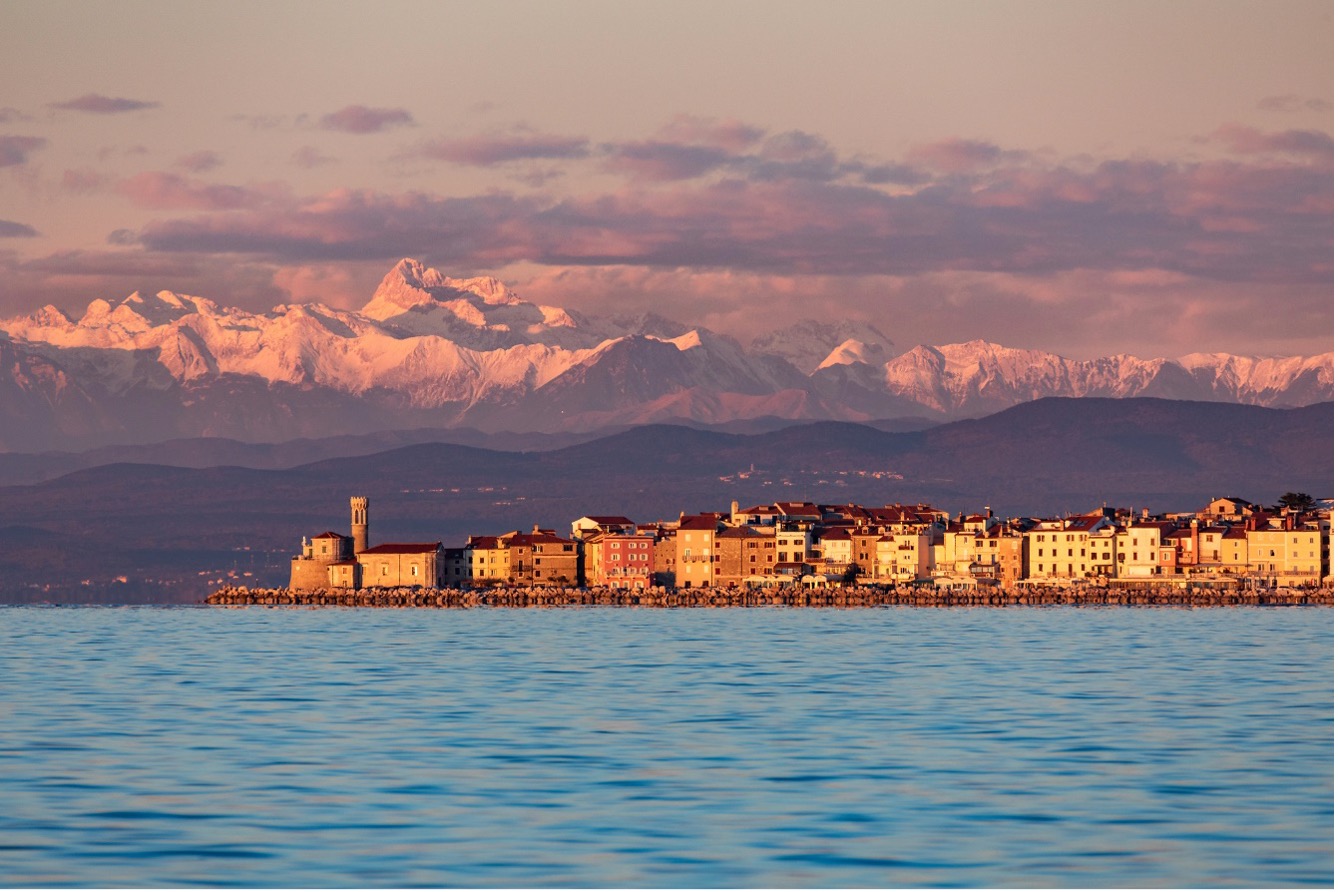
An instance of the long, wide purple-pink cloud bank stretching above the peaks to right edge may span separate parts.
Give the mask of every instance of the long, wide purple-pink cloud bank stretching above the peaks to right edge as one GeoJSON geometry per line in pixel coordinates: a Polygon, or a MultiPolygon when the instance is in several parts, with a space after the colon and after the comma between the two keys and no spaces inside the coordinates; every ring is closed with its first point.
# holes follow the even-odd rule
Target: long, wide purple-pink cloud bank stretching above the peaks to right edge
{"type": "MultiPolygon", "coordinates": [[[[145,186],[163,206],[207,205],[191,190],[178,198],[167,189],[175,182],[145,186]]],[[[1331,275],[1331,211],[1317,198],[1331,191],[1331,174],[1309,166],[1156,162],[1001,167],[896,195],[803,177],[563,201],[343,190],[242,215],[158,221],[142,238],[155,250],[292,263],[419,253],[468,267],[530,261],[892,275],[1161,267],[1315,281],[1331,275]]]]}

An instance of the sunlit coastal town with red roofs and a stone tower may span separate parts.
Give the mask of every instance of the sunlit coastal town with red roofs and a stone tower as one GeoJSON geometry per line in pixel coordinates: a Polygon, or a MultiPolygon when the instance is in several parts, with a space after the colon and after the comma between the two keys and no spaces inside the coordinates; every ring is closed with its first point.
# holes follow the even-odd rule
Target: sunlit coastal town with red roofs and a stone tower
{"type": "Polygon", "coordinates": [[[1222,496],[1184,514],[1100,507],[1006,519],[987,507],[951,516],[927,504],[735,501],[652,523],[590,515],[569,535],[535,526],[472,535],[462,547],[372,544],[369,510],[355,496],[348,535],[304,538],[286,591],[1333,587],[1333,503],[1306,493],[1271,507],[1222,496]]]}

